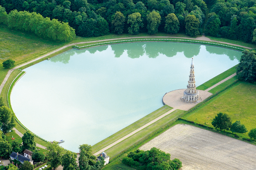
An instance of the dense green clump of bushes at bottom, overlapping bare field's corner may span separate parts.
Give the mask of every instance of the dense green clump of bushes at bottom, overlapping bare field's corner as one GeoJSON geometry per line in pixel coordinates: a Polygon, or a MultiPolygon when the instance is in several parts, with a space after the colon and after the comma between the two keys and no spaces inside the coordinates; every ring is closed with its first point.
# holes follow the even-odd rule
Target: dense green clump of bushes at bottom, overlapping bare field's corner
{"type": "Polygon", "coordinates": [[[153,147],[147,151],[137,149],[130,152],[122,159],[122,163],[140,170],[178,170],[182,167],[179,159],[170,160],[170,158],[169,153],[153,147]]]}

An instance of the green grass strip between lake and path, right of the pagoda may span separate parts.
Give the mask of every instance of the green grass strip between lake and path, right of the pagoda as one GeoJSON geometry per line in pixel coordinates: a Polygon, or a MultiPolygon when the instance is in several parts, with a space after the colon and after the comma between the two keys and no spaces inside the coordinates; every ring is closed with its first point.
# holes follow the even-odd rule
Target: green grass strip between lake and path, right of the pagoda
{"type": "MultiPolygon", "coordinates": [[[[223,73],[213,77],[212,79],[206,81],[205,83],[201,84],[200,86],[196,87],[197,90],[206,90],[209,87],[215,85],[216,83],[220,82],[221,80],[224,80],[228,76],[231,76],[236,72],[236,65],[234,67],[231,67],[230,69],[224,71],[223,73]]],[[[209,91],[210,92],[210,91],[209,91]]],[[[212,92],[210,92],[212,93],[212,92]]]]}

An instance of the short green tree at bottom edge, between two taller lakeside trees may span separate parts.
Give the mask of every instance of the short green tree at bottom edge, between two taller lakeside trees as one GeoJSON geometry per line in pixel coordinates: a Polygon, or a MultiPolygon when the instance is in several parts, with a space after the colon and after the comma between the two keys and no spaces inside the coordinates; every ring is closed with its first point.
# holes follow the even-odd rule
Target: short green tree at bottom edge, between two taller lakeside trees
{"type": "Polygon", "coordinates": [[[62,163],[63,170],[77,170],[78,166],[76,161],[76,154],[67,151],[64,155],[62,155],[62,163]]]}

